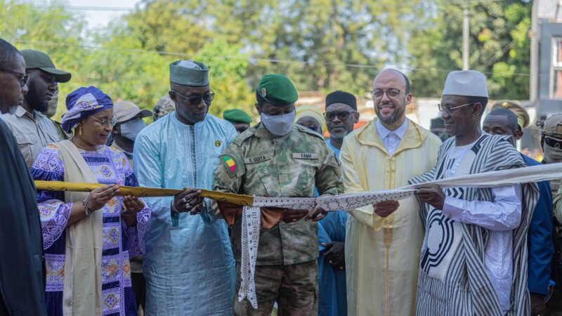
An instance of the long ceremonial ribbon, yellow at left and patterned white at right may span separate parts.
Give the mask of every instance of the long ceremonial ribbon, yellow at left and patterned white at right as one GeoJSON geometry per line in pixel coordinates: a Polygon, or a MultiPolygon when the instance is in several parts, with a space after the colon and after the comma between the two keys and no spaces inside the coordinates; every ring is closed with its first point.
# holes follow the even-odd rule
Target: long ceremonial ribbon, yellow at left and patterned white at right
{"type": "MultiPolygon", "coordinates": [[[[518,169],[475,173],[430,181],[440,187],[499,187],[521,183],[538,182],[562,178],[562,163],[528,166],[518,169]]],[[[65,183],[58,181],[35,181],[37,190],[50,191],[81,191],[89,192],[102,187],[98,183],[65,183]]],[[[312,211],[320,205],[326,211],[348,211],[361,206],[371,205],[387,200],[407,199],[414,195],[415,185],[399,187],[395,190],[358,192],[329,197],[250,197],[232,193],[201,190],[201,196],[218,202],[228,202],[244,206],[242,211],[242,262],[238,300],[247,298],[254,309],[257,308],[254,272],[261,227],[260,207],[280,207],[283,209],[308,209],[312,211]]],[[[152,187],[119,186],[117,195],[134,195],[136,197],[167,197],[174,196],[182,190],[159,189],[152,187]]]]}

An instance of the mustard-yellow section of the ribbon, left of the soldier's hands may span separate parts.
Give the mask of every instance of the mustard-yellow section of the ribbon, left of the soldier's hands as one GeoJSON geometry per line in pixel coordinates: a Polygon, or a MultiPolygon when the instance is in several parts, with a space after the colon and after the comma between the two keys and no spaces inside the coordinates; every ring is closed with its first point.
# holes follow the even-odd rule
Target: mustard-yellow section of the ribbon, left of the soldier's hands
{"type": "MultiPolygon", "coordinates": [[[[73,192],[91,192],[98,187],[105,185],[101,183],[72,183],[63,181],[41,181],[35,180],[35,187],[37,190],[46,191],[73,191],[73,192]]],[[[254,203],[254,197],[248,195],[235,195],[233,193],[224,193],[210,190],[201,190],[201,196],[208,199],[214,199],[218,202],[228,202],[241,206],[251,206],[254,203]]],[[[160,189],[157,187],[127,187],[126,185],[119,185],[119,192],[117,195],[133,195],[135,197],[173,197],[183,190],[176,189],[160,189]]]]}

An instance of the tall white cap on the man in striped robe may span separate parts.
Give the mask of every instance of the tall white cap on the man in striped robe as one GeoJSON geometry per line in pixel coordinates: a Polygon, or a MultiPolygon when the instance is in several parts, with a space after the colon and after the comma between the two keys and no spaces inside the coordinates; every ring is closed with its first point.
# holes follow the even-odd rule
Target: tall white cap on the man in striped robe
{"type": "Polygon", "coordinates": [[[449,72],[443,96],[476,96],[488,98],[486,77],[476,70],[449,72]]]}

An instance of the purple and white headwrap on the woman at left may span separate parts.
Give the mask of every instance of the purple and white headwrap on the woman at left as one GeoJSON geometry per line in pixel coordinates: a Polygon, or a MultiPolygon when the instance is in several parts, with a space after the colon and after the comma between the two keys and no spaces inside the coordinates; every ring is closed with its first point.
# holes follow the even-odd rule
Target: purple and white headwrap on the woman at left
{"type": "Polygon", "coordinates": [[[63,115],[63,130],[70,133],[80,119],[112,107],[111,98],[95,86],[77,88],[66,97],[68,111],[63,115]]]}

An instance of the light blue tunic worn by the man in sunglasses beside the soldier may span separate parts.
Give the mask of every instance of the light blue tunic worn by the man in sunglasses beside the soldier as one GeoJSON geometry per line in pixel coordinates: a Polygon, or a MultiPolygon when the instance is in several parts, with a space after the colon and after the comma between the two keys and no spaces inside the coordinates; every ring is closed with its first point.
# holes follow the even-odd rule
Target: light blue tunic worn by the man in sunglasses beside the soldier
{"type": "MultiPolygon", "coordinates": [[[[210,189],[218,156],[236,135],[232,124],[210,114],[186,125],[172,112],[136,138],[138,181],[145,187],[210,189]]],[[[232,315],[235,262],[225,221],[212,213],[181,213],[174,227],[172,199],[145,199],[152,208],[143,265],[147,315],[232,315]]]]}

